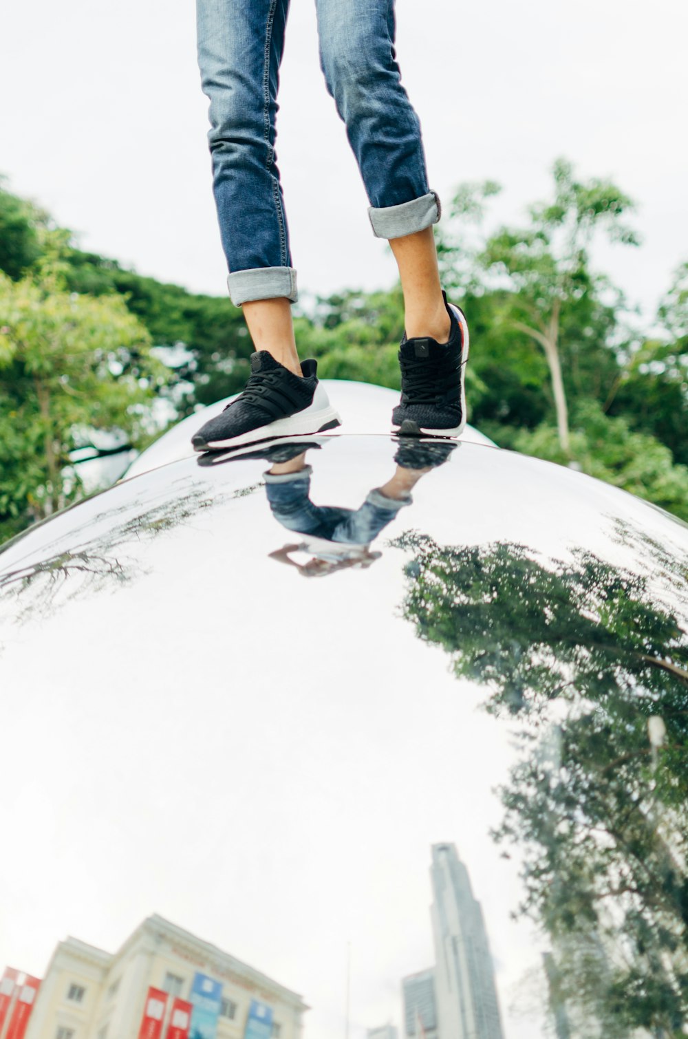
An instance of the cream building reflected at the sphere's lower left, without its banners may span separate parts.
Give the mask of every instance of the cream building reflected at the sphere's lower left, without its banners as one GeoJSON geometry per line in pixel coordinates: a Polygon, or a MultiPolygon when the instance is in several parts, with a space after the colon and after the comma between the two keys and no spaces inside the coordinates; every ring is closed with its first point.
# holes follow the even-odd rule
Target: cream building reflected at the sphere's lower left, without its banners
{"type": "Polygon", "coordinates": [[[221,983],[217,1039],[244,1035],[254,1001],[272,1010],[272,1039],[299,1039],[308,1010],[300,995],[161,916],[145,920],[114,954],[60,941],[26,1039],[136,1039],[150,987],[168,995],[164,1036],[174,1000],[190,1000],[197,974],[221,983]]]}

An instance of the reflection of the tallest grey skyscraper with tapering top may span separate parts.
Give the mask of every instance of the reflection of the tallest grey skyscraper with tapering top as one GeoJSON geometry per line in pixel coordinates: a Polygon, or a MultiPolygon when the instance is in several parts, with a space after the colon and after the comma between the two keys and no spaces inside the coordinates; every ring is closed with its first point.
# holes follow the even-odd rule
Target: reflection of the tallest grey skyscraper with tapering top
{"type": "Polygon", "coordinates": [[[441,1039],[502,1039],[482,910],[453,844],[432,846],[430,877],[441,1039]]]}

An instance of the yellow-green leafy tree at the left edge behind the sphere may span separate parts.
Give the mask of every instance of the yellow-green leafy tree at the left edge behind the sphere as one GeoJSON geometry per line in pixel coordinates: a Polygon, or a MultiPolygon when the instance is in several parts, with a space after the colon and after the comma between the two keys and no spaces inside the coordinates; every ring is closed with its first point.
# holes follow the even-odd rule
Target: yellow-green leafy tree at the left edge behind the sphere
{"type": "Polygon", "coordinates": [[[70,452],[91,428],[135,443],[165,370],[118,296],[64,291],[58,274],[0,274],[0,524],[15,533],[73,501],[70,452]]]}

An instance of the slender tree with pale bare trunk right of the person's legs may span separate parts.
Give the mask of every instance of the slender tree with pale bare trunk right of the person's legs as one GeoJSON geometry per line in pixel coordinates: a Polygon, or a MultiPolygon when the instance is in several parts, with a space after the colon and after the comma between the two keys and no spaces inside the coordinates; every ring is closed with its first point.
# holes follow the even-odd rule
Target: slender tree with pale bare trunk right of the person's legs
{"type": "MultiPolygon", "coordinates": [[[[450,219],[475,225],[482,218],[484,201],[497,190],[489,182],[464,186],[450,219]]],[[[456,260],[454,284],[473,295],[492,292],[493,326],[541,348],[559,443],[566,455],[571,450],[566,382],[582,382],[588,396],[596,390],[606,394],[605,383],[611,383],[616,368],[609,347],[623,299],[606,277],[592,270],[590,245],[600,234],[637,244],[624,222],[632,210],[631,199],[614,184],[579,181],[571,163],[559,160],[554,166],[554,196],[529,208],[527,227],[501,228],[482,244],[474,239],[473,247],[469,236],[468,248],[455,232],[442,243],[441,260],[449,279],[456,260]]]]}

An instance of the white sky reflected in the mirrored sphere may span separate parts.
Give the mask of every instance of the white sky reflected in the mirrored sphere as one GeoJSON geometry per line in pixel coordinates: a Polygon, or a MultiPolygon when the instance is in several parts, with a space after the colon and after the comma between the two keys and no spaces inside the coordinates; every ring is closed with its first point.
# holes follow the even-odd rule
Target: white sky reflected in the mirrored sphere
{"type": "MultiPolygon", "coordinates": [[[[313,452],[314,501],[356,507],[391,475],[392,452],[383,437],[313,452]]],[[[0,906],[0,960],[41,976],[58,938],[114,950],[155,911],[301,992],[307,1037],[329,1039],[342,1032],[350,940],[359,1039],[400,1023],[401,977],[433,961],[429,846],[454,841],[485,914],[505,1034],[540,1034],[509,1013],[536,952],[508,920],[517,864],[487,836],[508,734],[476,710],[484,691],[451,678],[398,615],[404,557],[385,540],[413,528],[555,555],[580,540],[628,563],[601,513],[624,509],[665,539],[683,531],[586,477],[469,445],[423,477],[369,570],[305,581],[267,558],[289,538],[262,488],[230,497],[264,469],[182,462],[0,556],[26,562],[33,541],[189,472],[204,495],[226,496],[131,540],[136,580],[7,641],[0,781],[14,854],[0,886],[15,908],[0,906]]]]}

